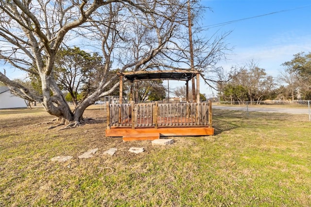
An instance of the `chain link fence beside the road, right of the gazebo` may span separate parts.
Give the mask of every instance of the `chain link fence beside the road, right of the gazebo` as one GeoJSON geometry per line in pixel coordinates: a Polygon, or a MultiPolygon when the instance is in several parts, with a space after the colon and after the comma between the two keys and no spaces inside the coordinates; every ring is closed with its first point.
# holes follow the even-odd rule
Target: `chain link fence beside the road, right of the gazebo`
{"type": "Polygon", "coordinates": [[[246,116],[249,115],[250,111],[257,112],[278,112],[278,113],[295,113],[295,114],[306,114],[309,116],[311,121],[311,101],[218,101],[212,103],[214,109],[224,110],[240,110],[245,111],[246,116]]]}

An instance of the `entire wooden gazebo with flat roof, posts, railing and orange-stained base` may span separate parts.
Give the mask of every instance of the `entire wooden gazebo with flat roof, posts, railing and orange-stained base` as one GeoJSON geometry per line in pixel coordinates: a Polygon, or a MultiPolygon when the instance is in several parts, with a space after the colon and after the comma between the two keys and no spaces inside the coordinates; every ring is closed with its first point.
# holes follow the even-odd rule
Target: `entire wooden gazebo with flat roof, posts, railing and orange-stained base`
{"type": "Polygon", "coordinates": [[[119,73],[120,103],[107,105],[107,137],[123,137],[123,141],[155,140],[160,136],[213,135],[211,101],[200,102],[200,73],[188,70],[139,71],[119,73]],[[188,82],[196,77],[196,101],[190,102],[188,82]],[[122,103],[123,79],[184,80],[187,101],[178,103],[122,103]]]}

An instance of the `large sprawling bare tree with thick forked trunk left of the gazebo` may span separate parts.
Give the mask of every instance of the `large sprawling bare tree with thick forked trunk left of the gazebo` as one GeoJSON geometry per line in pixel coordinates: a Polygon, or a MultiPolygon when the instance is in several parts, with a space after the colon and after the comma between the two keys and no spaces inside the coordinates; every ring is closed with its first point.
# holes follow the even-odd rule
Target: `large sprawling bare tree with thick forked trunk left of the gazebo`
{"type": "MultiPolygon", "coordinates": [[[[118,88],[118,75],[112,70],[190,69],[185,66],[190,57],[187,20],[183,0],[0,0],[0,59],[39,77],[42,94],[2,73],[0,81],[18,96],[42,103],[60,124],[77,126],[89,105],[118,88]],[[96,89],[71,111],[55,80],[54,62],[62,44],[75,46],[79,38],[89,39],[86,47],[101,46],[97,49],[103,52],[104,66],[96,89]]],[[[198,70],[208,73],[223,57],[226,35],[206,41],[194,38],[198,70]]]]}

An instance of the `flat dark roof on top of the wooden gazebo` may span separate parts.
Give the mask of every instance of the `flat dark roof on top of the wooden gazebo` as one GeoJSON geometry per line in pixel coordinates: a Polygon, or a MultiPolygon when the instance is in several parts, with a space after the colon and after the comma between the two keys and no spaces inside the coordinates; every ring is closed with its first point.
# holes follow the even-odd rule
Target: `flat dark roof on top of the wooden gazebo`
{"type": "Polygon", "coordinates": [[[156,70],[156,71],[137,71],[120,73],[127,80],[138,81],[138,80],[191,80],[198,71],[190,70],[156,70]]]}

